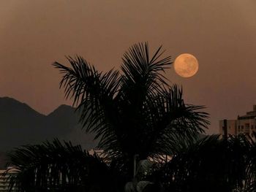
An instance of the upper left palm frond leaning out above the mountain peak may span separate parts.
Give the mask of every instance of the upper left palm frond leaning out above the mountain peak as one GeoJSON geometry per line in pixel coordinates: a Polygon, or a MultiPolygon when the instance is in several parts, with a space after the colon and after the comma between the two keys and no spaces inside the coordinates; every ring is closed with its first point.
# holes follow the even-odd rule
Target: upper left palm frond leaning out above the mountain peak
{"type": "Polygon", "coordinates": [[[66,97],[74,99],[73,104],[80,112],[80,122],[86,131],[97,131],[105,123],[105,110],[109,110],[113,97],[119,88],[119,74],[110,70],[97,72],[81,57],[68,57],[71,68],[55,62],[53,66],[63,74],[60,86],[66,97]]]}

